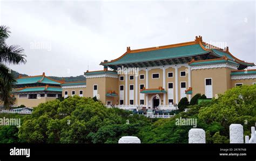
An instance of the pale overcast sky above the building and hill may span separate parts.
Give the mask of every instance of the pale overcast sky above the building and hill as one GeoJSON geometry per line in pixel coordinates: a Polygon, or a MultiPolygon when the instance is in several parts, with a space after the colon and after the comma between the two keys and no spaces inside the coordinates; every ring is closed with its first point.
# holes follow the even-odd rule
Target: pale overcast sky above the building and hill
{"type": "Polygon", "coordinates": [[[8,44],[24,48],[19,73],[82,75],[132,49],[193,41],[229,46],[256,64],[254,1],[2,1],[8,44]]]}

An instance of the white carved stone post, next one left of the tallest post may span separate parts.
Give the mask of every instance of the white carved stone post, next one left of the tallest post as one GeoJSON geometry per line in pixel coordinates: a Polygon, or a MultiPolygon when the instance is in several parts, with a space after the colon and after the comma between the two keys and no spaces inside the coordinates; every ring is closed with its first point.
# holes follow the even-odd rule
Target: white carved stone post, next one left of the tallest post
{"type": "Polygon", "coordinates": [[[188,143],[205,143],[205,130],[192,128],[188,131],[188,143]]]}

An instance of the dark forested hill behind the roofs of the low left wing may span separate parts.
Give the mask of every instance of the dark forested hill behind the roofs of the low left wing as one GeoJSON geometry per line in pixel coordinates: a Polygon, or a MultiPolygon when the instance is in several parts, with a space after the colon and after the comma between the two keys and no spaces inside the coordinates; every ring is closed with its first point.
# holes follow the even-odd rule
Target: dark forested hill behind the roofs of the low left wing
{"type": "MultiPolygon", "coordinates": [[[[16,71],[11,71],[12,74],[14,74],[15,78],[18,78],[19,75],[22,76],[29,76],[27,74],[20,74],[16,71]]],[[[55,80],[62,80],[62,77],[59,76],[49,76],[51,79],[55,79],[55,80]]],[[[69,77],[63,77],[65,82],[75,82],[75,81],[85,81],[86,78],[84,75],[79,75],[79,76],[69,76],[69,77]]]]}

